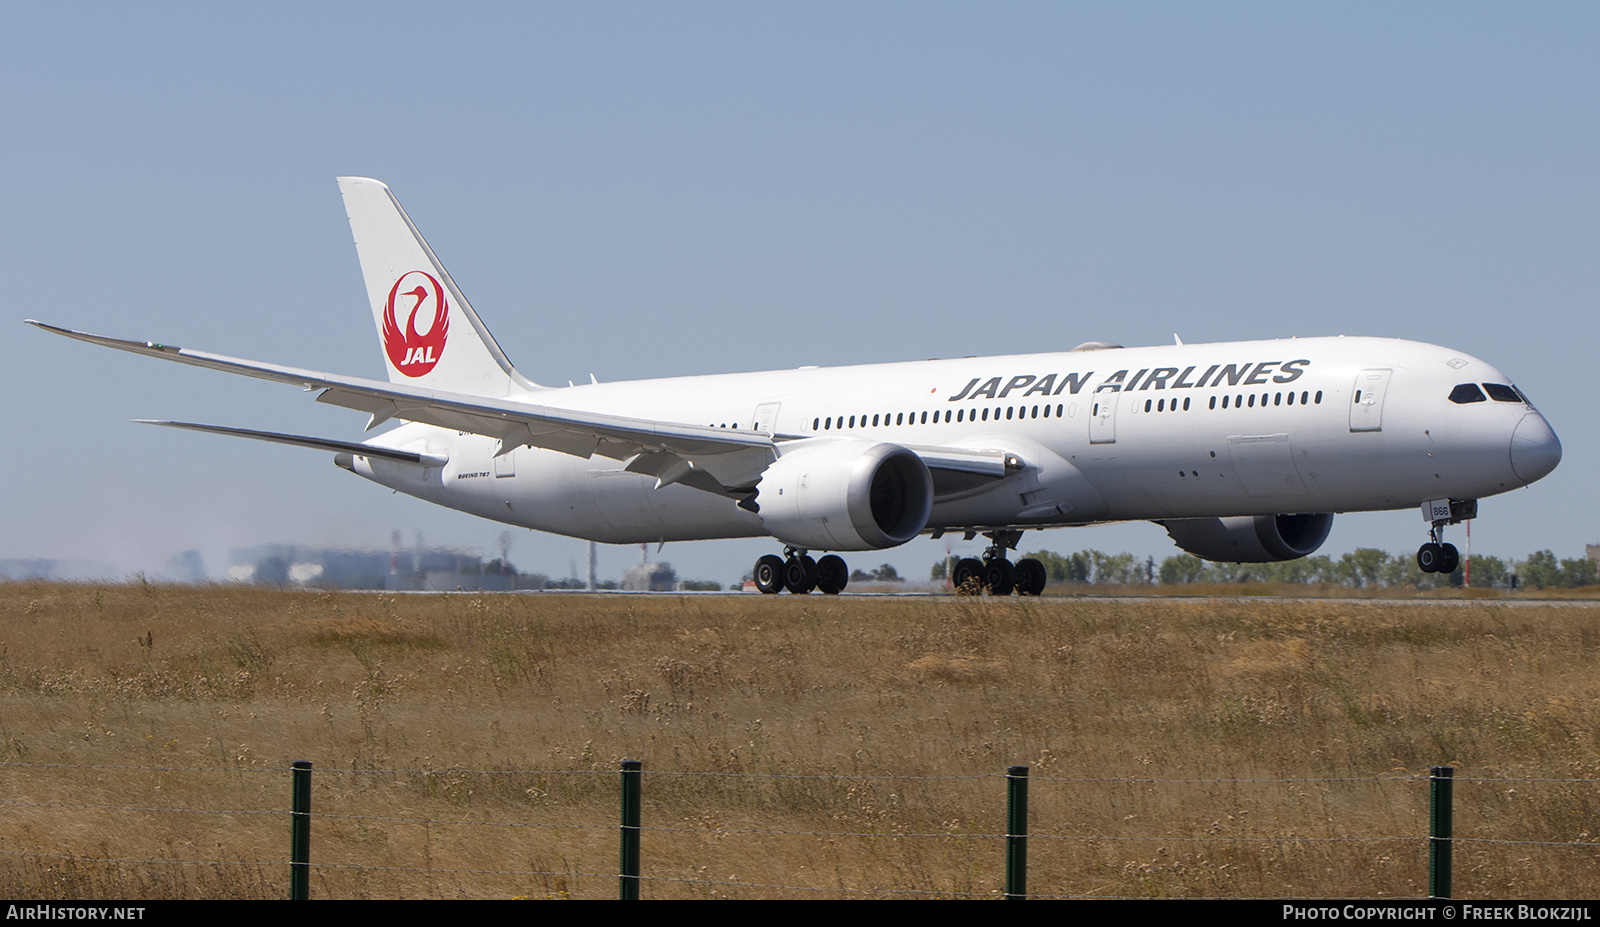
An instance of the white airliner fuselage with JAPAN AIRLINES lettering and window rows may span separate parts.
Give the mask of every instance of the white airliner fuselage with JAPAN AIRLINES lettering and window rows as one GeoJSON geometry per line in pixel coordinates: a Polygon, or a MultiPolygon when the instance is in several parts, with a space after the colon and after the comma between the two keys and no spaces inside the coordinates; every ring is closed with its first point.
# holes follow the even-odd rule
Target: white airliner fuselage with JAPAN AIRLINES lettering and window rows
{"type": "MultiPolygon", "coordinates": [[[[542,389],[549,408],[811,440],[1003,450],[1024,468],[946,487],[926,530],[1400,509],[1539,479],[1560,443],[1510,384],[1432,344],[1304,338],[774,370],[542,389]],[[1517,448],[1514,453],[1514,447],[1517,448]]],[[[792,439],[792,440],[786,440],[792,439]]],[[[734,500],[608,458],[405,424],[368,443],[442,468],[358,458],[386,487],[466,512],[608,543],[763,536],[734,500]]]]}

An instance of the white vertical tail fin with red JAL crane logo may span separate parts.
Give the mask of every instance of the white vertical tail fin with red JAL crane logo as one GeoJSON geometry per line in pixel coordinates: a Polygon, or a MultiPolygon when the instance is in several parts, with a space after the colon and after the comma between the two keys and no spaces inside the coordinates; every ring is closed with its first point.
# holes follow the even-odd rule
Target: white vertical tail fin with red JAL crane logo
{"type": "Polygon", "coordinates": [[[390,383],[506,397],[530,383],[494,343],[389,187],[339,178],[390,383]]]}

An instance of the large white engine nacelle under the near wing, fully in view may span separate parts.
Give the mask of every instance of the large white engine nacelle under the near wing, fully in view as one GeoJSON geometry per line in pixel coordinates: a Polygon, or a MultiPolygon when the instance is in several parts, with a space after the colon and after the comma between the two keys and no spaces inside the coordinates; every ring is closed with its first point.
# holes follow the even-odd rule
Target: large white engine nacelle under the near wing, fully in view
{"type": "Polygon", "coordinates": [[[933,477],[894,443],[818,440],[786,450],[755,485],[762,524],[808,551],[878,551],[922,533],[933,477]]]}

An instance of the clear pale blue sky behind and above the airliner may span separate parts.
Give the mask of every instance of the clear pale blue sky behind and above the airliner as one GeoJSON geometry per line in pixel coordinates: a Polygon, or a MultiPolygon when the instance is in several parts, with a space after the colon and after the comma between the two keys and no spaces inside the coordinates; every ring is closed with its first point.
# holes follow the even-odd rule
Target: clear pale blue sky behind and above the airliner
{"type": "MultiPolygon", "coordinates": [[[[326,455],[128,423],[354,437],[355,413],[21,325],[382,376],[338,175],[389,183],[546,383],[1174,333],[1450,344],[1566,450],[1485,500],[1474,549],[1581,556],[1595,48],[1584,3],[6,5],[0,557],[498,549],[326,455]]],[[[1325,551],[1421,540],[1410,511],[1347,516],[1325,551]]],[[[1040,546],[1174,552],[1154,525],[1040,546]]],[[[768,548],[661,556],[731,581],[768,548]]],[[[851,565],[925,576],[944,549],[851,565]]],[[[602,548],[602,573],[637,557],[602,548]]],[[[518,532],[512,559],[560,575],[587,546],[518,532]]]]}

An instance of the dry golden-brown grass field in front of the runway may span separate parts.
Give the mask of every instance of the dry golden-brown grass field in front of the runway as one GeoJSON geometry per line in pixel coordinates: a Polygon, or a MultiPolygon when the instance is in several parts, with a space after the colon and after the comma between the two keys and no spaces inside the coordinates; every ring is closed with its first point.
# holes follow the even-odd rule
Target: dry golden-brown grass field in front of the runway
{"type": "MultiPolygon", "coordinates": [[[[283,897],[309,759],[314,897],[608,898],[638,759],[646,897],[995,893],[1013,764],[1038,895],[1421,897],[1434,764],[1458,837],[1597,839],[1597,620],[0,584],[0,895],[283,897]]],[[[1462,898],[1595,884],[1456,849],[1462,898]]]]}

